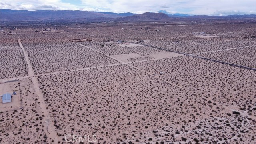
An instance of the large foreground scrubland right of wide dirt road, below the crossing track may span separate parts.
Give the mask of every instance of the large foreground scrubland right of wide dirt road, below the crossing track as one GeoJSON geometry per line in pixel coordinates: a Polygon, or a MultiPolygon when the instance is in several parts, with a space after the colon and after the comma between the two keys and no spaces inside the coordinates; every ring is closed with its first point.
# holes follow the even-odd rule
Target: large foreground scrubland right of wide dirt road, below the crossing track
{"type": "MultiPolygon", "coordinates": [[[[221,86],[202,88],[194,94],[166,81],[123,65],[39,78],[50,111],[58,118],[56,128],[62,138],[71,132],[96,134],[100,143],[182,142],[182,138],[188,142],[226,139],[232,143],[233,134],[252,138],[253,134],[240,132],[236,126],[243,125],[244,131],[254,126],[249,112],[240,116],[230,108],[251,110],[253,85],[238,98],[237,94],[221,93],[223,89],[212,92],[221,86]]],[[[191,83],[198,85],[196,80],[191,83]]]]}

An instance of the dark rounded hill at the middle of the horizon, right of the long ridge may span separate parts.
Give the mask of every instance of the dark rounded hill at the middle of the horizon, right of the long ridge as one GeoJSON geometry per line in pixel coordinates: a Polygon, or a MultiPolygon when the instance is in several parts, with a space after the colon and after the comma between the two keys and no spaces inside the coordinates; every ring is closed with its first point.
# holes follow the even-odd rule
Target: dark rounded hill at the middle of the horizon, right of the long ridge
{"type": "Polygon", "coordinates": [[[164,13],[146,12],[143,14],[135,14],[133,16],[118,18],[115,21],[165,21],[169,19],[170,17],[164,13]]]}

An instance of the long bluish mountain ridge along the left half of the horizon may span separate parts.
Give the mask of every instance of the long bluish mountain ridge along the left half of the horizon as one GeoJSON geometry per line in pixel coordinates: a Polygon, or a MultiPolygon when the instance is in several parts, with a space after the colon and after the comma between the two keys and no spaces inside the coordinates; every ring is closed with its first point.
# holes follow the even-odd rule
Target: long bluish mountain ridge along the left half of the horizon
{"type": "Polygon", "coordinates": [[[132,16],[128,13],[113,12],[88,12],[80,10],[0,10],[1,21],[27,21],[27,20],[79,20],[79,19],[97,19],[97,18],[120,18],[132,16]]]}

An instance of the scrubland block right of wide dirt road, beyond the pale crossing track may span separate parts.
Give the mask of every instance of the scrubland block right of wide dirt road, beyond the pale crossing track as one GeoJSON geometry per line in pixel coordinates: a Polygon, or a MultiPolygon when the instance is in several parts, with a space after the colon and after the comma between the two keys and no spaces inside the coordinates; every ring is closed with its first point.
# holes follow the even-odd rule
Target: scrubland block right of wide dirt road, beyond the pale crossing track
{"type": "Polygon", "coordinates": [[[22,43],[28,52],[36,74],[118,63],[103,54],[70,41],[56,42],[49,40],[46,43],[37,44],[40,43],[38,39],[34,42],[24,39],[22,43]]]}

